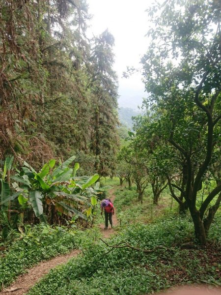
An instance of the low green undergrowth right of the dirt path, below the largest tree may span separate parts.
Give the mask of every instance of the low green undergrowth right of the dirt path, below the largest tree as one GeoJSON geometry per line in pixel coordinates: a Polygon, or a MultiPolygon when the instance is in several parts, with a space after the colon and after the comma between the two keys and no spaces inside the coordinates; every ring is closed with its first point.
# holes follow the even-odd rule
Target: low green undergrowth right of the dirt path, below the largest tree
{"type": "Polygon", "coordinates": [[[166,247],[149,254],[130,248],[111,250],[101,240],[90,239],[83,255],[53,269],[28,295],[137,295],[152,294],[177,284],[221,286],[221,255],[217,253],[220,244],[214,242],[221,231],[219,218],[218,228],[211,229],[208,246],[203,250],[178,247],[193,239],[189,218],[133,224],[108,240],[111,245],[126,241],[140,249],[166,247]]]}

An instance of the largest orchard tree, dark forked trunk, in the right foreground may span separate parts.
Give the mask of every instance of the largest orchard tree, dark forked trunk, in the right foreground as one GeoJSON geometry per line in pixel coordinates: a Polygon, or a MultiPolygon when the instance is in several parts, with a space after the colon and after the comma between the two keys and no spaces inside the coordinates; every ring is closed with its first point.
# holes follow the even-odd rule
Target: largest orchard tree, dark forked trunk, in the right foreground
{"type": "Polygon", "coordinates": [[[190,210],[195,236],[205,244],[221,202],[221,184],[197,206],[202,181],[221,144],[221,4],[208,0],[168,0],[149,10],[149,49],[142,58],[147,104],[161,110],[159,124],[168,146],[180,153],[183,185],[168,177],[190,210]],[[211,203],[212,202],[212,203],[211,203]]]}

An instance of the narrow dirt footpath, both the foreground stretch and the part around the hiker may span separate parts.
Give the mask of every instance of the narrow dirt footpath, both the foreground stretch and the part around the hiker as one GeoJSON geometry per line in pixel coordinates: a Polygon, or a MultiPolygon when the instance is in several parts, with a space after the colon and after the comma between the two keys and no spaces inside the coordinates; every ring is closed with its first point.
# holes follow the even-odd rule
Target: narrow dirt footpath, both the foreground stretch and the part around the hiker
{"type": "MultiPolygon", "coordinates": [[[[110,190],[109,198],[111,199],[111,202],[114,202],[115,199],[114,191],[114,188],[110,190]]],[[[112,220],[113,226],[116,226],[116,209],[114,209],[114,212],[115,214],[113,215],[112,220]]],[[[114,233],[114,230],[111,228],[109,228],[108,230],[104,230],[104,226],[104,223],[99,225],[101,233],[104,238],[109,238],[114,233]]],[[[67,263],[71,258],[77,257],[80,253],[80,250],[75,249],[65,255],[59,255],[51,260],[39,263],[37,266],[30,268],[28,270],[28,273],[19,276],[10,287],[4,288],[0,292],[0,295],[25,295],[28,290],[33,287],[40,279],[42,279],[42,277],[45,276],[52,268],[67,263]]]]}

